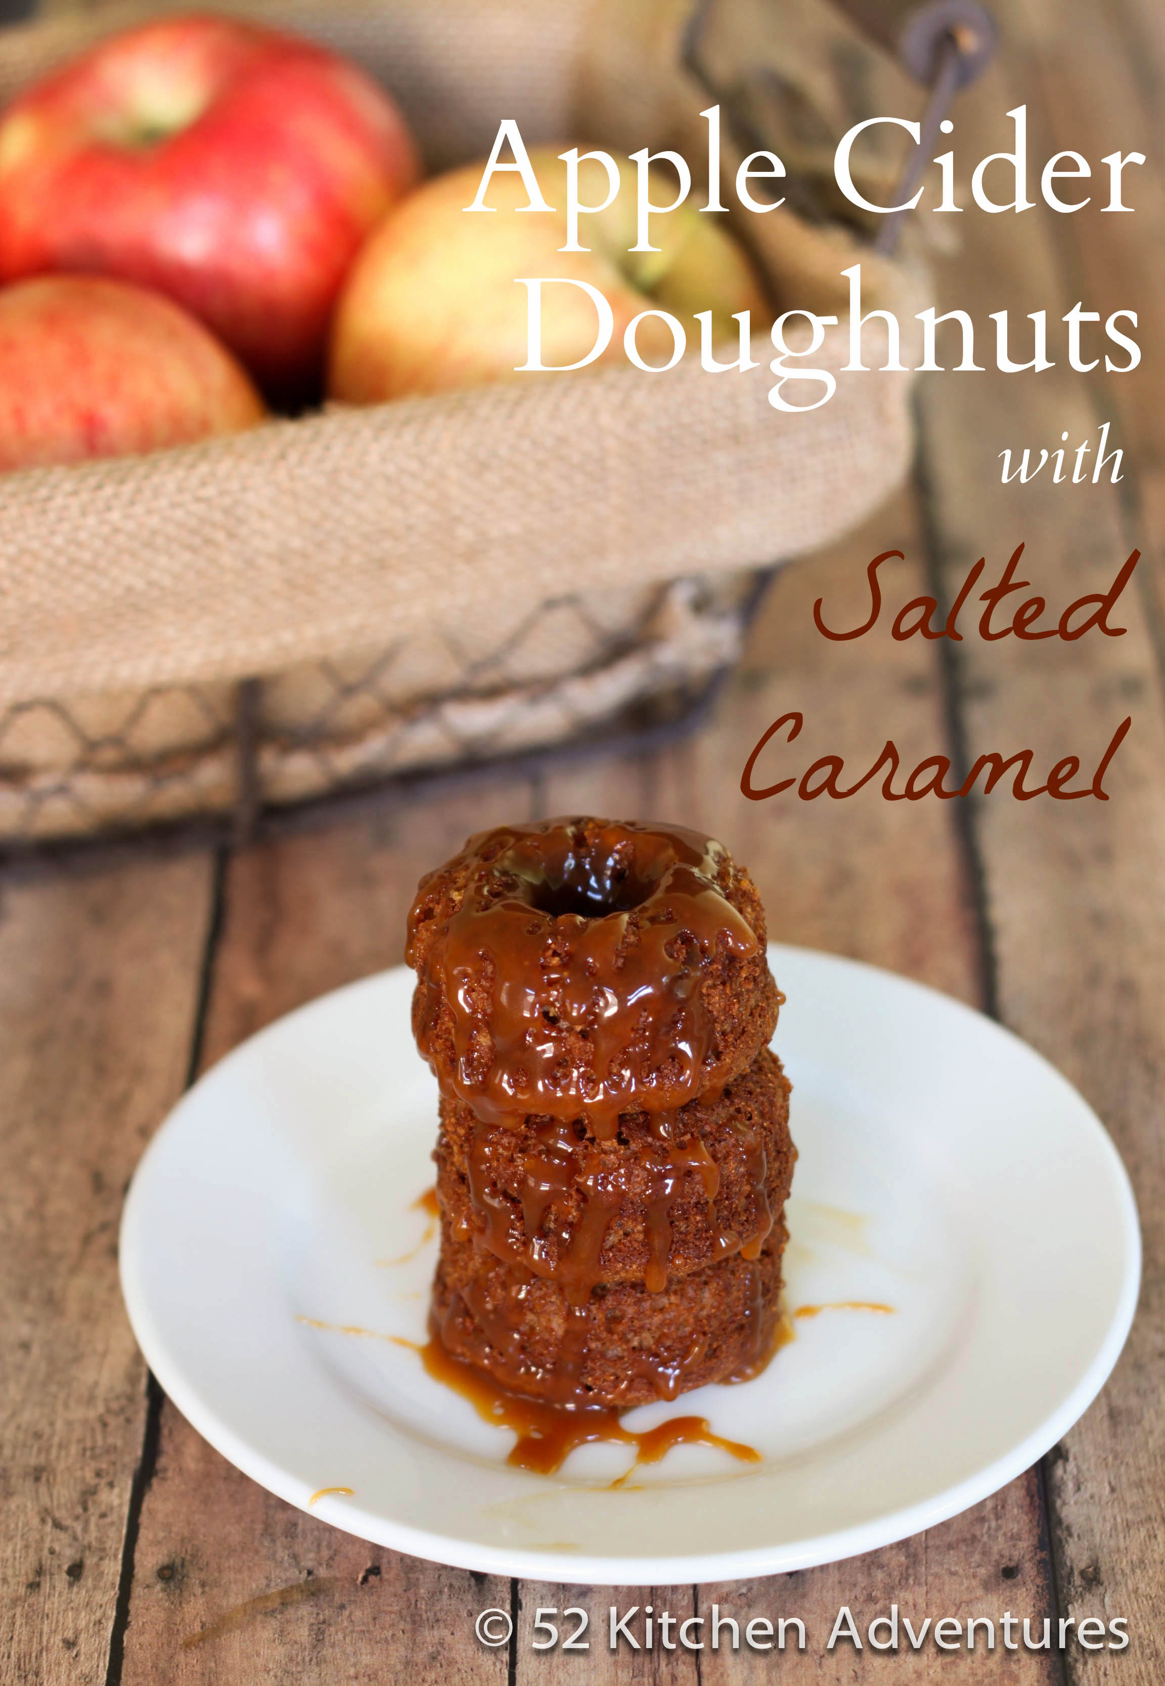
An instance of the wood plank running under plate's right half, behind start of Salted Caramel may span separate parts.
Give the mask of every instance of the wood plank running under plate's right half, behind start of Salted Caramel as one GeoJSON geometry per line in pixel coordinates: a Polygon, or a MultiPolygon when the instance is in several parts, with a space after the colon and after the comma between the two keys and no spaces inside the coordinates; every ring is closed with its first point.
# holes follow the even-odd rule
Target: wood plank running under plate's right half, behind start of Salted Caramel
{"type": "MultiPolygon", "coordinates": [[[[924,545],[915,506],[900,496],[845,545],[787,568],[750,639],[749,654],[715,723],[700,737],[647,759],[637,767],[599,765],[546,781],[545,811],[612,811],[617,799],[637,803],[632,814],[658,814],[703,826],[725,838],[747,862],[779,941],[833,949],[907,973],[963,1000],[981,990],[981,956],[968,862],[956,831],[953,804],[885,803],[867,789],[846,803],[799,803],[774,797],[750,803],[740,794],[744,764],[764,728],[786,710],[804,713],[804,732],[784,759],[767,762],[769,777],[801,771],[821,754],[840,754],[856,772],[877,757],[887,737],[912,765],[942,754],[948,730],[942,676],[934,646],[921,641],[862,639],[831,644],[813,629],[813,602],[836,627],[860,626],[868,597],[865,566],[883,550],[897,548],[905,561],[883,565],[887,600],[902,602],[926,590],[924,545]],[[796,754],[794,754],[796,752],[796,754]]],[[[949,752],[949,750],[946,750],[949,752]]],[[[765,782],[765,781],[762,781],[765,782]]],[[[777,1045],[781,1034],[777,1028],[777,1045]]],[[[792,1128],[796,1138],[796,1094],[792,1128]]],[[[540,1593],[541,1597],[541,1593],[540,1593]]],[[[565,1593],[561,1595],[565,1597],[565,1593]]],[[[678,1592],[668,1595],[673,1612],[678,1592]]],[[[523,1588],[523,1603],[529,1588],[523,1588]]],[[[555,1603],[555,1598],[546,1598],[555,1603]]],[[[612,1602],[656,1602],[646,1588],[617,1593],[585,1590],[578,1603],[592,1612],[592,1632],[605,1622],[612,1602]]],[[[774,1576],[695,1590],[696,1614],[711,1603],[740,1622],[742,1646],[700,1656],[700,1679],[735,1683],[769,1678],[813,1679],[819,1686],[882,1679],[900,1659],[865,1654],[855,1661],[848,1646],[824,1654],[840,1605],[872,1620],[892,1602],[915,1617],[986,1615],[1007,1608],[1050,1615],[1050,1570],[1042,1539],[1039,1477],[1028,1474],[964,1516],[887,1551],[850,1563],[789,1576],[774,1576]],[[747,1649],[745,1624],[754,1615],[799,1615],[806,1624],[803,1656],[747,1649]]],[[[728,1644],[725,1632],[725,1646],[728,1644]]],[[[792,1640],[789,1640],[792,1644],[792,1640]]],[[[983,1639],[980,1640],[980,1646],[983,1639]]],[[[927,1669],[937,1652],[927,1654],[927,1669]]],[[[695,1654],[691,1654],[695,1659],[695,1654]]],[[[681,1656],[656,1652],[663,1678],[686,1678],[681,1656]]],[[[519,1679],[543,1679],[548,1657],[518,1652],[519,1679]]],[[[570,1659],[572,1678],[587,1681],[637,1679],[647,1659],[620,1647],[610,1654],[592,1646],[588,1659],[570,1659]]],[[[563,1657],[560,1667],[566,1667],[563,1657]]],[[[1039,1654],[949,1654],[944,1678],[974,1681],[1050,1683],[1055,1664],[1039,1654]]]]}

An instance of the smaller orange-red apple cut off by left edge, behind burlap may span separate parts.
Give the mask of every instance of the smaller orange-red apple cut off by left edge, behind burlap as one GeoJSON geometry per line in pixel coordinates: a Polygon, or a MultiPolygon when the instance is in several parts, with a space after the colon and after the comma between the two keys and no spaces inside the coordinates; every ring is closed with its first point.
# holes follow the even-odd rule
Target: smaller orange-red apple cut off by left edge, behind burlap
{"type": "Polygon", "coordinates": [[[86,275],[0,288],[0,469],[187,445],[263,413],[231,352],[158,293],[86,275]]]}

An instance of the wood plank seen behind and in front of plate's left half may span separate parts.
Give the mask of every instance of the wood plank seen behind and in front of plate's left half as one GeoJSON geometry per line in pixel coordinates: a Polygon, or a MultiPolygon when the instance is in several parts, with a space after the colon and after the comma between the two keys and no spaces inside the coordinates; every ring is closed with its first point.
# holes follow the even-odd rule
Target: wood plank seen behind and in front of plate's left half
{"type": "MultiPolygon", "coordinates": [[[[403,958],[416,880],[465,836],[529,813],[497,786],[238,855],[207,1003],[204,1064],[292,1007],[403,958]]],[[[327,1679],[504,1681],[474,1639],[507,1580],[437,1568],[329,1528],[241,1475],[167,1401],[137,1543],[123,1686],[327,1679]]]]}

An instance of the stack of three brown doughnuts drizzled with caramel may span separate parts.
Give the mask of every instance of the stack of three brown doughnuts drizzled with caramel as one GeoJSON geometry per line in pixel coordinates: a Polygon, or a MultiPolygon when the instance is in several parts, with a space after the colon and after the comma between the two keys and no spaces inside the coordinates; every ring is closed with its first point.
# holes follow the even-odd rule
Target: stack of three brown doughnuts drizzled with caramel
{"type": "Polygon", "coordinates": [[[572,1408],[755,1372],[796,1152],[749,873],[673,826],[499,826],[421,880],[408,961],[440,1344],[572,1408]]]}

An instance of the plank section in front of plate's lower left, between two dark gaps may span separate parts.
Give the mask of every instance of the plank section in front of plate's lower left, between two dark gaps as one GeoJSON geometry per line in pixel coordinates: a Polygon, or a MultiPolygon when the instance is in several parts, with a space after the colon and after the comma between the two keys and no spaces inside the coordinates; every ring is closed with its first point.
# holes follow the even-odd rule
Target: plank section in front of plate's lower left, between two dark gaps
{"type": "Polygon", "coordinates": [[[369,1546],[271,1497],[169,1404],[137,1546],[125,1686],[506,1681],[474,1617],[509,1581],[369,1546]]]}

